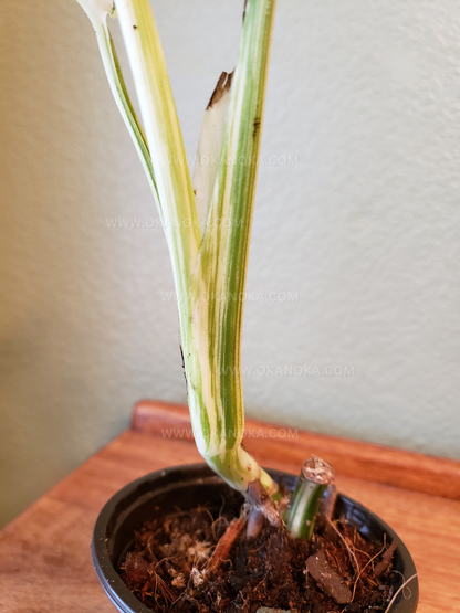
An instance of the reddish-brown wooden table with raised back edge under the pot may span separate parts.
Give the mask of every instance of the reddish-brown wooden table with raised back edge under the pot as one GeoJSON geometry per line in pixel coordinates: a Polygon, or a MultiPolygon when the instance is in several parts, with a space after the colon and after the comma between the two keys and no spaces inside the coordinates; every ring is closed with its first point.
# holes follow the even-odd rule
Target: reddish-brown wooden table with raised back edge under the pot
{"type": "MultiPolygon", "coordinates": [[[[339,490],[377,512],[409,548],[418,613],[460,613],[460,462],[250,420],[247,431],[247,447],[265,466],[296,474],[311,453],[332,462],[339,490]]],[[[0,532],[0,613],[114,613],[91,561],[98,511],[143,474],[199,461],[186,408],[139,403],[132,429],[0,532]]]]}

